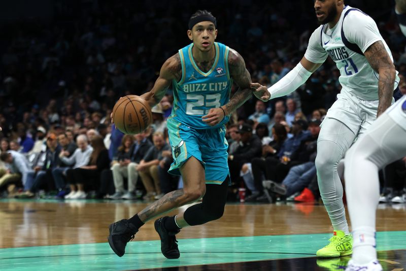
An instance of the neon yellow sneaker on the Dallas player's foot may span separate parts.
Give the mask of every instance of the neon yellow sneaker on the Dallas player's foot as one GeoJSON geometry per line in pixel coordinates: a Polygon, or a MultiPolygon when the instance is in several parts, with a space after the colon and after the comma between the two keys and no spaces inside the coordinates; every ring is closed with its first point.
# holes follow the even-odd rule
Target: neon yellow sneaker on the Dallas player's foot
{"type": "Polygon", "coordinates": [[[351,234],[346,235],[341,230],[335,230],[333,234],[329,239],[330,244],[316,252],[317,257],[333,258],[352,254],[351,234]]]}

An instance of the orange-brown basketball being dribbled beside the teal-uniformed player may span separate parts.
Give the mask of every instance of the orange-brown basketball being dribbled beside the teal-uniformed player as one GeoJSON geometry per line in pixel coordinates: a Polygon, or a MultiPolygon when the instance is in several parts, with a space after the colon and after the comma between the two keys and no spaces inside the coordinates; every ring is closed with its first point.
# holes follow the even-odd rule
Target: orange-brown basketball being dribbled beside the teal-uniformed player
{"type": "Polygon", "coordinates": [[[113,121],[124,134],[142,133],[152,122],[151,107],[140,96],[124,96],[114,105],[113,121]]]}

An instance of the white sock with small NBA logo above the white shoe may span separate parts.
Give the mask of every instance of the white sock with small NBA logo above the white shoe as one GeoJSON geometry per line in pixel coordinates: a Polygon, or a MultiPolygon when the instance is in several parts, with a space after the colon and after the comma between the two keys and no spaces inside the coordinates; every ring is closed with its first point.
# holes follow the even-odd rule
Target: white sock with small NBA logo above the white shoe
{"type": "Polygon", "coordinates": [[[366,264],[377,259],[375,230],[359,227],[352,232],[354,238],[352,259],[357,264],[366,264]]]}

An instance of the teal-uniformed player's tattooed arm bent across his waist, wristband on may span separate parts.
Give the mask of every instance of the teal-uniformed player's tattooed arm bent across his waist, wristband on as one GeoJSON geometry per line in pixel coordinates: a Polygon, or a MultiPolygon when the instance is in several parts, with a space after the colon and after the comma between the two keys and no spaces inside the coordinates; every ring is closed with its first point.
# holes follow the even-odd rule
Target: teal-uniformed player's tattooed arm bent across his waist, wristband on
{"type": "Polygon", "coordinates": [[[209,114],[202,117],[202,120],[211,126],[220,123],[226,115],[231,114],[232,111],[244,104],[251,98],[253,92],[251,89],[251,75],[245,67],[243,57],[237,51],[230,49],[227,61],[230,77],[238,84],[239,89],[227,104],[210,109],[209,114]]]}

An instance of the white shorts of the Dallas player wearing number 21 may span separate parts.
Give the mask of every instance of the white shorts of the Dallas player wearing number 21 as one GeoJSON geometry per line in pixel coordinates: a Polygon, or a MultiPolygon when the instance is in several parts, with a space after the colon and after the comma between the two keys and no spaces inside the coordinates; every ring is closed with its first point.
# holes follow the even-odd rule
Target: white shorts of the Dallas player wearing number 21
{"type": "Polygon", "coordinates": [[[337,100],[328,109],[326,117],[337,119],[359,136],[377,118],[378,105],[379,100],[365,101],[343,91],[337,95],[337,100]]]}

